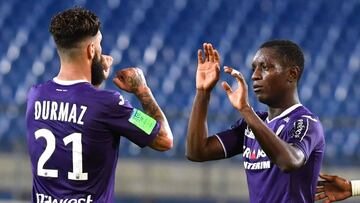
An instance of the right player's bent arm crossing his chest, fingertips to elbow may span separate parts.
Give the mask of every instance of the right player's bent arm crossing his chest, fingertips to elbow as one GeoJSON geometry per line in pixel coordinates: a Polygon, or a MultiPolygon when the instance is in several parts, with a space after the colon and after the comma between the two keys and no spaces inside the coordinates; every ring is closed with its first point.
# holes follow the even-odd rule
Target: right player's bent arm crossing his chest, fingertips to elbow
{"type": "Polygon", "coordinates": [[[231,104],[245,119],[270,160],[285,172],[300,168],[305,162],[304,153],[276,136],[254,112],[248,101],[248,88],[242,74],[230,67],[225,67],[224,71],[235,77],[239,85],[238,89],[233,91],[226,82],[222,83],[231,104]]]}

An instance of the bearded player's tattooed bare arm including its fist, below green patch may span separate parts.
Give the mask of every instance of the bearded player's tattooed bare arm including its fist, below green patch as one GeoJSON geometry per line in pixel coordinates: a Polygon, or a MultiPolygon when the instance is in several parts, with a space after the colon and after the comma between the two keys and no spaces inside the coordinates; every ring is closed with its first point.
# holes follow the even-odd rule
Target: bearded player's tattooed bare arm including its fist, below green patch
{"type": "Polygon", "coordinates": [[[149,146],[155,150],[166,151],[173,146],[173,135],[169,123],[157,104],[151,89],[147,86],[143,72],[139,68],[127,68],[117,72],[113,79],[120,89],[133,93],[140,101],[143,110],[160,123],[160,130],[149,146]]]}

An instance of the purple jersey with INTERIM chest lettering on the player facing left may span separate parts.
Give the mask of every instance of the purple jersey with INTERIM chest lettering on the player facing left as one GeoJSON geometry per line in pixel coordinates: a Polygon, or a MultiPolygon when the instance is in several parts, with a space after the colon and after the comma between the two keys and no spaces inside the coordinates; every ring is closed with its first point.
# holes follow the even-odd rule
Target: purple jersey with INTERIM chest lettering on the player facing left
{"type": "Polygon", "coordinates": [[[251,129],[243,119],[227,131],[218,133],[226,157],[242,153],[250,202],[304,203],[314,202],[317,178],[324,156],[325,138],[322,125],[301,104],[294,105],[269,120],[267,113],[257,113],[280,139],[299,148],[305,164],[284,173],[261,149],[251,129]]]}

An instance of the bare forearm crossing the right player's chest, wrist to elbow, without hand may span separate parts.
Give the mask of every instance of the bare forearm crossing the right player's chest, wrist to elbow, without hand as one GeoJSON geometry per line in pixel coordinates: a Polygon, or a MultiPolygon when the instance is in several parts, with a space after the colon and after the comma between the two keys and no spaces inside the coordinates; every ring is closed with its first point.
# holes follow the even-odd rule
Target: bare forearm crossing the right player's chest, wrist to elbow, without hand
{"type": "Polygon", "coordinates": [[[303,154],[300,154],[302,152],[276,136],[251,107],[242,109],[240,113],[253,131],[261,148],[280,169],[288,172],[299,168],[303,164],[303,154]]]}

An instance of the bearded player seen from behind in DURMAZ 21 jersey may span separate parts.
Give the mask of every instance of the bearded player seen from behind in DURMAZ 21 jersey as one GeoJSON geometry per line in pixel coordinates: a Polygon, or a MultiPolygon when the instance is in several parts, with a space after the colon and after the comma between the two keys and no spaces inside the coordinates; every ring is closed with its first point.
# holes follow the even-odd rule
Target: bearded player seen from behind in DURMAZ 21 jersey
{"type": "Polygon", "coordinates": [[[113,81],[136,95],[146,113],[119,92],[95,87],[108,76],[112,58],[101,53],[94,13],[79,7],[63,11],[49,30],[61,67],[28,93],[32,202],[114,202],[120,138],[165,151],[172,147],[172,132],[140,69],[118,71],[113,81]]]}

